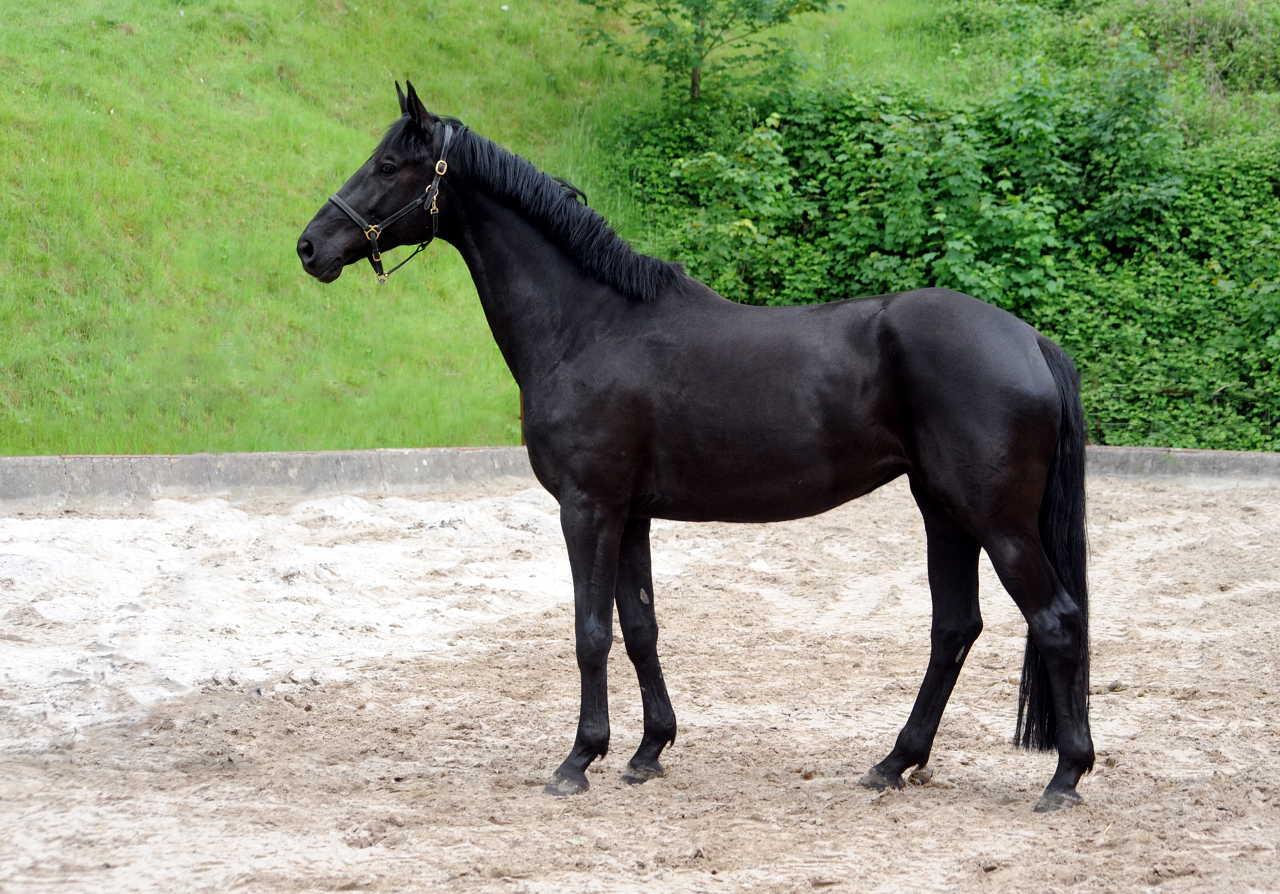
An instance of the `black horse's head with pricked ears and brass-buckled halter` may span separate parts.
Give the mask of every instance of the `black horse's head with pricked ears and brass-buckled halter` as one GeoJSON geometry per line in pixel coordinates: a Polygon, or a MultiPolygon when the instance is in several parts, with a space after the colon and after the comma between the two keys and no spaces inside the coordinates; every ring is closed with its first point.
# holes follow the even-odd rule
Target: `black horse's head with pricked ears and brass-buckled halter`
{"type": "Polygon", "coordinates": [[[457,128],[428,111],[412,83],[407,87],[408,96],[396,85],[399,120],[298,238],[302,269],[323,283],[361,259],[385,280],[379,252],[411,242],[421,250],[435,236],[445,154],[457,128]]]}

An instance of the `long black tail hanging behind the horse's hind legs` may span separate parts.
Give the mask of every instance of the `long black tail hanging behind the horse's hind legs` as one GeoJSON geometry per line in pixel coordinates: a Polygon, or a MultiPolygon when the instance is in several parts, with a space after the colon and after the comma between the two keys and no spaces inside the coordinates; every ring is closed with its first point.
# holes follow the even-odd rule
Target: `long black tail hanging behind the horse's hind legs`
{"type": "MultiPolygon", "coordinates": [[[[1080,607],[1080,666],[1084,685],[1089,684],[1089,543],[1084,532],[1084,407],[1080,406],[1080,374],[1057,345],[1039,339],[1062,402],[1062,425],[1048,466],[1044,497],[1041,501],[1039,535],[1057,579],[1080,607]]],[[[1044,656],[1027,637],[1023,680],[1018,688],[1018,729],[1014,743],[1023,748],[1053,751],[1057,747],[1057,719],[1050,690],[1044,656]]]]}

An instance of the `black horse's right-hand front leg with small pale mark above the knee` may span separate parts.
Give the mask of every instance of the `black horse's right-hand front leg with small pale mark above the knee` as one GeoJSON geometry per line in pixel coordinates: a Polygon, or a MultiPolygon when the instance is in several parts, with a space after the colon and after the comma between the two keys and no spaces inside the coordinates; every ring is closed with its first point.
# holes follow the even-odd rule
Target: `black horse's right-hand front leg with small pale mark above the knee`
{"type": "Polygon", "coordinates": [[[622,779],[645,783],[664,775],[658,757],[676,740],[676,713],[658,663],[658,620],[654,616],[653,566],[649,560],[649,520],[631,519],[622,532],[618,585],[614,593],[627,657],[635,665],[644,703],[644,738],[622,779]]]}

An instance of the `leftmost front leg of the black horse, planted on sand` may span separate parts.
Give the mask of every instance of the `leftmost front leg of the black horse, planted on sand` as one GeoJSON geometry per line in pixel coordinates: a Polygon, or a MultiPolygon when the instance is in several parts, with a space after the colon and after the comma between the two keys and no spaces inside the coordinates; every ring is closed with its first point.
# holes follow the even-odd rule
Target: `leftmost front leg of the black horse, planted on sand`
{"type": "Polygon", "coordinates": [[[561,500],[561,528],[573,574],[573,629],[582,702],[573,751],[543,789],[568,795],[586,792],[586,768],[609,751],[609,693],[607,670],[613,646],[613,589],[618,574],[618,544],[626,512],[611,512],[581,497],[561,500]]]}

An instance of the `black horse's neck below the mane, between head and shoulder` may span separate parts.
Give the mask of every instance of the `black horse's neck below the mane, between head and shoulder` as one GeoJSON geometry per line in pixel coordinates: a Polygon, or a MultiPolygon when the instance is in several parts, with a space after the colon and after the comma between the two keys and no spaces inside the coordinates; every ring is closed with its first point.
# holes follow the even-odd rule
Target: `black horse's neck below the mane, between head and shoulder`
{"type": "Polygon", "coordinates": [[[604,293],[561,248],[517,211],[489,196],[462,200],[458,233],[451,233],[475,280],[494,341],[526,387],[550,371],[576,342],[600,325],[604,293]]]}

